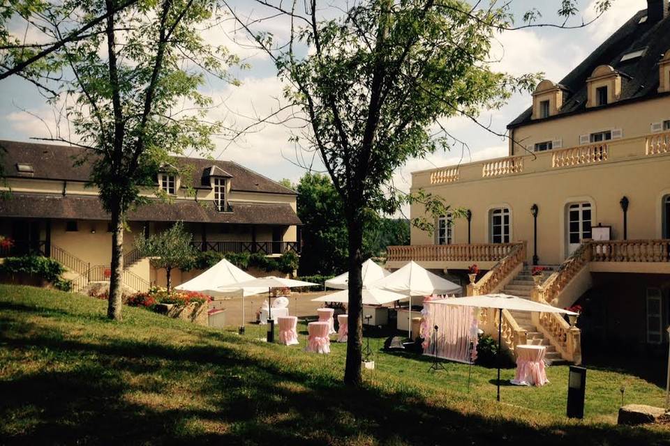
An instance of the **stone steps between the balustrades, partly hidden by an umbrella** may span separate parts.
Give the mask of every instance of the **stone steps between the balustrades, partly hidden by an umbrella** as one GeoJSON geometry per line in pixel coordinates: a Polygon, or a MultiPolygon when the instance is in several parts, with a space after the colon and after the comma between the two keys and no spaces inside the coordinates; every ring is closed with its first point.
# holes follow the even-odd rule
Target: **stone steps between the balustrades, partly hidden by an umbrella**
{"type": "MultiPolygon", "coordinates": [[[[558,268],[558,266],[543,266],[544,272],[542,273],[542,282],[546,280],[551,273],[558,268]]],[[[523,266],[523,270],[519,272],[512,281],[510,281],[502,289],[502,293],[516,295],[522,299],[530,300],[530,295],[533,293],[533,288],[535,287],[535,282],[533,282],[533,276],[530,274],[532,266],[523,266]]],[[[519,324],[523,330],[526,330],[526,339],[528,344],[546,346],[546,355],[544,359],[546,363],[551,364],[560,364],[565,363],[563,357],[560,356],[560,353],[556,351],[556,347],[551,345],[549,339],[544,337],[544,334],[537,330],[537,327],[533,325],[533,322],[530,318],[530,313],[528,312],[509,312],[514,318],[514,321],[519,324]]]]}

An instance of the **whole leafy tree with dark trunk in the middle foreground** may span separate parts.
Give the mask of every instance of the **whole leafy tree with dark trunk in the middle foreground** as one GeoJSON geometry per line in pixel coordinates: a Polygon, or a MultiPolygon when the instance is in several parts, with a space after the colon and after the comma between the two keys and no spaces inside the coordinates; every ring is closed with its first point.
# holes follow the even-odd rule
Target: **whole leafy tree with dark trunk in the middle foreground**
{"type": "MultiPolygon", "coordinates": [[[[358,385],[364,215],[393,213],[408,199],[399,196],[392,175],[408,159],[448,146],[440,122],[453,116],[476,121],[483,109],[532,89],[538,76],[507,75],[491,64],[496,33],[514,29],[512,1],[364,0],[345,8],[316,0],[258,3],[290,20],[286,43],[237,20],[276,62],[288,84],[285,98],[306,121],[295,141],[318,154],[341,199],[350,315],[344,379],[358,385]]],[[[576,1],[557,3],[565,20],[576,13],[576,1]]],[[[599,12],[609,3],[597,0],[599,12]]],[[[535,26],[538,18],[530,10],[519,27],[535,26]]]]}

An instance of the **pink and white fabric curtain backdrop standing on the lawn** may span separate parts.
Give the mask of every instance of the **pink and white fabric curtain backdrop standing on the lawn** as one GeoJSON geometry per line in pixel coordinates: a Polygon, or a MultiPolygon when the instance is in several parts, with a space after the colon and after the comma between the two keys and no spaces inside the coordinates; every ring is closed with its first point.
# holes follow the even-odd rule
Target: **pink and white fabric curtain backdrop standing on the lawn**
{"type": "Polygon", "coordinates": [[[436,355],[447,360],[474,362],[477,358],[477,316],[475,307],[456,307],[424,301],[424,355],[436,355]],[[431,344],[435,325],[438,326],[435,348],[431,344]]]}

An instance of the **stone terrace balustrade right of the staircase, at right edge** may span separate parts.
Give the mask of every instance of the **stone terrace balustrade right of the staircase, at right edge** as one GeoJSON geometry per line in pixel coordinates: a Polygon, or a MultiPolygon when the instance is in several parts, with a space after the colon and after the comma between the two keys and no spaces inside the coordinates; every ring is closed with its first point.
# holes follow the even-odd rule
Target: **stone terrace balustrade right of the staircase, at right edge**
{"type": "Polygon", "coordinates": [[[595,262],[667,262],[670,240],[590,241],[590,258],[595,262]]]}

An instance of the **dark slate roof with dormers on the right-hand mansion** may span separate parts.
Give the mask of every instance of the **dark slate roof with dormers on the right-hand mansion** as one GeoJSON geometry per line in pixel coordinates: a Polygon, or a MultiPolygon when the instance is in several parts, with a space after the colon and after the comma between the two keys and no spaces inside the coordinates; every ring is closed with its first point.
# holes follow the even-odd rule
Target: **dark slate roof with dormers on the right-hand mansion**
{"type": "MultiPolygon", "coordinates": [[[[668,93],[658,93],[657,90],[660,82],[658,63],[664,52],[670,51],[670,16],[654,23],[650,20],[643,20],[643,17],[647,17],[647,10],[640,10],[636,13],[579,66],[558,82],[567,93],[563,107],[558,114],[531,121],[533,107],[529,107],[509,123],[507,128],[591,111],[591,109],[586,109],[586,79],[600,65],[613,67],[622,77],[620,98],[606,107],[616,107],[637,100],[668,95],[668,93]],[[642,23],[640,23],[641,20],[642,23]],[[626,54],[641,49],[645,50],[641,57],[628,61],[621,60],[626,54]]],[[[591,26],[597,26],[597,22],[591,26]]]]}

